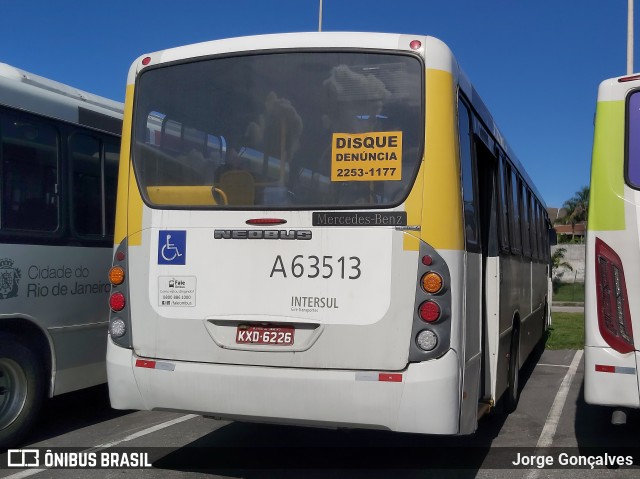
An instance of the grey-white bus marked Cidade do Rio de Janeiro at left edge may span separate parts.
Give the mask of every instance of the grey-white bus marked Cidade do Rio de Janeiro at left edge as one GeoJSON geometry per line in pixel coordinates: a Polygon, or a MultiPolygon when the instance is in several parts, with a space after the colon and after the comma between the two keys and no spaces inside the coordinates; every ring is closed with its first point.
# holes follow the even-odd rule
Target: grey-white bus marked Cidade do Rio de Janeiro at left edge
{"type": "Polygon", "coordinates": [[[0,448],[106,381],[122,111],[0,64],[0,448]]]}

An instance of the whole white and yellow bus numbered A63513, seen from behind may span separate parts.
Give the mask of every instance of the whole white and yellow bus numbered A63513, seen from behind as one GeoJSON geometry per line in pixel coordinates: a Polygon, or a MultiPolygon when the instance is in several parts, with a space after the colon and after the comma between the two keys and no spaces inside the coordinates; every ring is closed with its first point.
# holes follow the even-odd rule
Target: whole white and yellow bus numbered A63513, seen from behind
{"type": "Polygon", "coordinates": [[[118,409],[468,434],[549,315],[537,190],[449,49],[300,33],[130,70],[118,409]]]}

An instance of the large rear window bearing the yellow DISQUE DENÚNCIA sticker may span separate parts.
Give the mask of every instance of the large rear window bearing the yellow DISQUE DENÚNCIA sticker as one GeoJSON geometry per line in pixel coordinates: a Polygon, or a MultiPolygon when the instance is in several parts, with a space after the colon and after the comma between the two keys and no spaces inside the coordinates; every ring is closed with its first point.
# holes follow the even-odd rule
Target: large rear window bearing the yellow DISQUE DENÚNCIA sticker
{"type": "Polygon", "coordinates": [[[150,68],[134,112],[142,195],[163,208],[395,206],[422,157],[423,71],[412,55],[344,51],[150,68]]]}

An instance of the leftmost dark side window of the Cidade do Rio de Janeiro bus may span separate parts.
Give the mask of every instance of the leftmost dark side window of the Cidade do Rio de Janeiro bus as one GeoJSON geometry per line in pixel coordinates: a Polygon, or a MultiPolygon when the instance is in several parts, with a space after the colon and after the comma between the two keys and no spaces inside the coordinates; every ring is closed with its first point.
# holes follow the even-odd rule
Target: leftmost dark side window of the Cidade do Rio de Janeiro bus
{"type": "Polygon", "coordinates": [[[26,115],[6,112],[2,134],[2,229],[58,227],[58,133],[26,115]]]}

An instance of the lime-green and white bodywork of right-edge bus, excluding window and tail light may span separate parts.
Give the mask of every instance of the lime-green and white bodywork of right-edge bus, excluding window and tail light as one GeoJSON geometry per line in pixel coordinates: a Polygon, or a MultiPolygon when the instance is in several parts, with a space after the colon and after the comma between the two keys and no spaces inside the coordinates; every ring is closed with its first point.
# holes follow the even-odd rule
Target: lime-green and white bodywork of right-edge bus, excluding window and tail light
{"type": "MultiPolygon", "coordinates": [[[[637,131],[627,125],[629,95],[640,88],[637,80],[603,81],[598,89],[589,220],[587,222],[585,267],[585,400],[589,404],[640,408],[638,344],[640,344],[640,288],[638,237],[640,235],[640,195],[625,181],[627,144],[637,131]],[[620,305],[628,307],[633,329],[631,352],[618,352],[601,332],[597,275],[600,261],[596,243],[613,251],[616,267],[624,279],[620,305]]],[[[607,257],[611,260],[612,256],[607,257]]],[[[604,317],[604,313],[603,317],[604,317]]]]}

